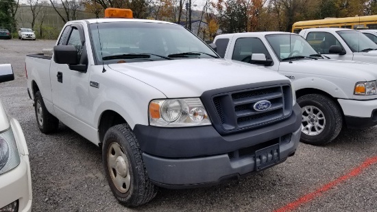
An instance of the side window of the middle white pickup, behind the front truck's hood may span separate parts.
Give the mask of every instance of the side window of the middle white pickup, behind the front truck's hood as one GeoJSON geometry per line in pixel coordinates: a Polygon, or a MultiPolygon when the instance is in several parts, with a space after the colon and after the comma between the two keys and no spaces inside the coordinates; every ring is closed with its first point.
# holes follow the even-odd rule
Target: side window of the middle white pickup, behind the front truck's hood
{"type": "Polygon", "coordinates": [[[232,59],[247,62],[250,61],[252,54],[265,54],[266,58],[271,58],[259,38],[238,38],[234,45],[232,59]]]}

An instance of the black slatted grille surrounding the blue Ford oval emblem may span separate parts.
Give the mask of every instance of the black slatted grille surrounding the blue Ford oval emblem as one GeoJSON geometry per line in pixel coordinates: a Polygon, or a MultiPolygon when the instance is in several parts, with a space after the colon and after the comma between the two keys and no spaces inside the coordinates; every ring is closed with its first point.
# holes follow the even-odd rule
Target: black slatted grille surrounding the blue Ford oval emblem
{"type": "Polygon", "coordinates": [[[221,93],[212,96],[212,104],[225,132],[254,128],[291,115],[291,87],[282,84],[221,93]],[[254,106],[262,100],[271,106],[258,111],[254,106]]]}

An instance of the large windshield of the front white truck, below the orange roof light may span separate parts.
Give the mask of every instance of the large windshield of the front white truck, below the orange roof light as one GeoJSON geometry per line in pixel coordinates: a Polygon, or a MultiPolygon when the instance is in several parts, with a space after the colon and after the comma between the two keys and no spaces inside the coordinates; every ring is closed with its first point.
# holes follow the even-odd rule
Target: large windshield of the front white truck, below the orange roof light
{"type": "Polygon", "coordinates": [[[99,63],[218,58],[202,40],[180,25],[134,21],[93,23],[90,31],[99,63]]]}

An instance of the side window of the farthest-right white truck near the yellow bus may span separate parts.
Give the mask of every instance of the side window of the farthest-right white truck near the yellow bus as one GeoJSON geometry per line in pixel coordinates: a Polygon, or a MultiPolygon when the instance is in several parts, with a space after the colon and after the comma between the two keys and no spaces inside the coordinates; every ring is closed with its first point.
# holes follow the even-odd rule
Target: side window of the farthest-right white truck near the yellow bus
{"type": "Polygon", "coordinates": [[[306,40],[308,40],[308,43],[311,44],[313,49],[320,54],[329,54],[328,49],[330,49],[332,45],[341,46],[339,40],[328,32],[310,32],[306,40]]]}

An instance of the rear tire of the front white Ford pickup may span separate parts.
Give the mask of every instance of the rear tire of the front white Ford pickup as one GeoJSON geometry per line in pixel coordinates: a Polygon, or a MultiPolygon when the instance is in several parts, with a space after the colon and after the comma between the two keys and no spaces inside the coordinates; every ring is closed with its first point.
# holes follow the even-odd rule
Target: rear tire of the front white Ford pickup
{"type": "Polygon", "coordinates": [[[49,113],[45,106],[45,102],[43,102],[40,91],[37,91],[34,96],[34,110],[36,113],[36,123],[38,124],[40,132],[49,134],[58,130],[59,119],[49,113]]]}

